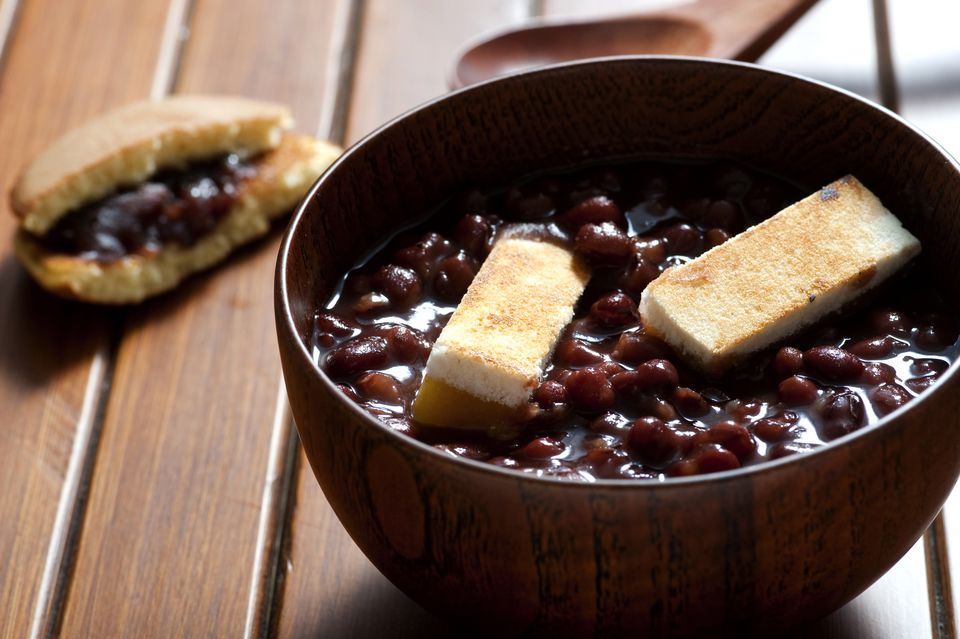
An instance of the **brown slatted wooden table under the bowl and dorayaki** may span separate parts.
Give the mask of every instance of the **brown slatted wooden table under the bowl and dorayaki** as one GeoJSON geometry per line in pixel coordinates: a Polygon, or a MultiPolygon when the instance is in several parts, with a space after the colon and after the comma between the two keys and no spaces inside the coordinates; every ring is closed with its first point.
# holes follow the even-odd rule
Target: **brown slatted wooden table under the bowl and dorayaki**
{"type": "MultiPolygon", "coordinates": [[[[350,143],[442,93],[479,31],[645,4],[0,0],[0,184],[66,127],[170,92],[280,100],[301,130],[350,143]]],[[[891,0],[890,17],[905,115],[960,151],[960,10],[891,0]]],[[[873,39],[868,0],[823,0],[763,62],[873,97],[873,39]]],[[[366,561],[299,452],[273,327],[279,229],[173,294],[101,309],[34,286],[13,228],[3,212],[0,636],[459,634],[366,561]]],[[[958,500],[797,635],[954,636],[958,500]]]]}

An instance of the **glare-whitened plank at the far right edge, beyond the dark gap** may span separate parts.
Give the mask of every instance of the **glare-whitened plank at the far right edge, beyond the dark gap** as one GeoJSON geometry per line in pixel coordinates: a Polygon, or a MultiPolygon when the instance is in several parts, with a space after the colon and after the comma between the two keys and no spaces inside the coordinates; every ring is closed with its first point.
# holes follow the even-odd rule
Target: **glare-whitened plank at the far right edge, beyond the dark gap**
{"type": "MultiPolygon", "coordinates": [[[[960,157],[960,4],[937,0],[888,0],[901,114],[960,157]]],[[[960,616],[960,490],[943,509],[928,548],[938,563],[931,572],[944,595],[936,622],[941,636],[957,636],[960,616]]]]}

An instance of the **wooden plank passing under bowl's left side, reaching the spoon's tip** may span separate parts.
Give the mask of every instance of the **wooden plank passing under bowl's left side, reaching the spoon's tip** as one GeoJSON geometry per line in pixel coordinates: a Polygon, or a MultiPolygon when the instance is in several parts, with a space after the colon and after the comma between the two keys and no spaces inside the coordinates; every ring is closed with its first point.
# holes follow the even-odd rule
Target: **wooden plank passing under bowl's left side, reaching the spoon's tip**
{"type": "MultiPolygon", "coordinates": [[[[477,32],[522,19],[526,0],[363,5],[346,140],[446,90],[456,48],[477,32]]],[[[282,637],[428,637],[451,632],[397,590],[363,556],[327,505],[306,459],[281,563],[282,637]]]]}

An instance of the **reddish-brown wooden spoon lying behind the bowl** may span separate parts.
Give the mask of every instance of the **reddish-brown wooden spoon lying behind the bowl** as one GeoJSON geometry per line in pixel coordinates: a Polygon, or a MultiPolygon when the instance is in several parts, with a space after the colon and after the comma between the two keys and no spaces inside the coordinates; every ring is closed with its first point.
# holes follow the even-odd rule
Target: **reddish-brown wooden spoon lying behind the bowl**
{"type": "Polygon", "coordinates": [[[638,53],[756,60],[817,0],[697,0],[597,20],[535,19],[481,36],[456,58],[458,89],[500,75],[582,58],[638,53]]]}

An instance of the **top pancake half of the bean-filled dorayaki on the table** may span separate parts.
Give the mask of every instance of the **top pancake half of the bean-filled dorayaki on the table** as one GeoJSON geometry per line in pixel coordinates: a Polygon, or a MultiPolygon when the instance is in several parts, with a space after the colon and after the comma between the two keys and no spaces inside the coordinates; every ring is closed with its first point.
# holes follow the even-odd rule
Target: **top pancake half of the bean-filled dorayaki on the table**
{"type": "Polygon", "coordinates": [[[26,230],[41,235],[63,214],[159,169],[276,146],[292,124],[280,104],[224,96],[134,102],[68,131],[26,166],[10,193],[26,230]]]}

